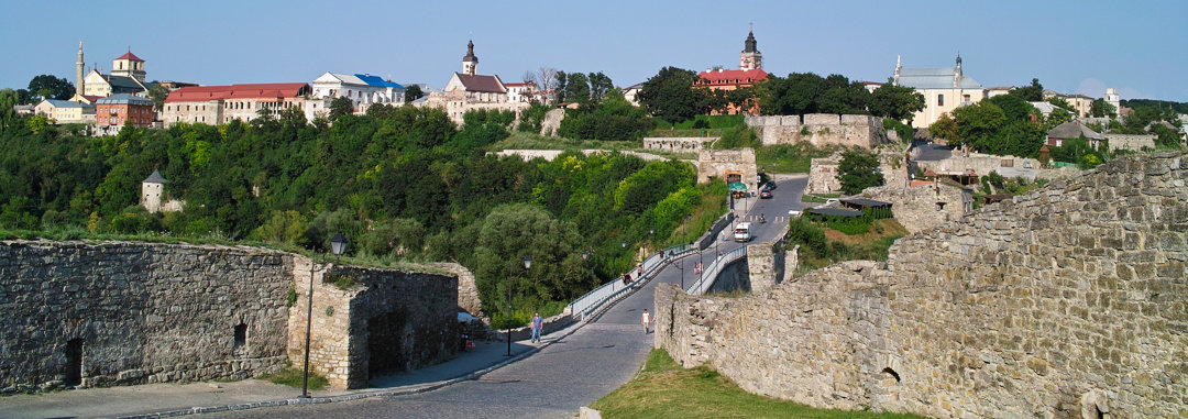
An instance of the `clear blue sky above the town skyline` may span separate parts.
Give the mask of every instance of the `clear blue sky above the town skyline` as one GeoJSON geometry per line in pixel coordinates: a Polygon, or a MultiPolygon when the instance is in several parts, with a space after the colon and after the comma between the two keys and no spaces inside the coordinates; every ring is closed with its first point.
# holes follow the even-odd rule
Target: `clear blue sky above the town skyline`
{"type": "Polygon", "coordinates": [[[25,1],[0,0],[0,88],[74,82],[78,40],[105,72],[129,46],[150,80],[310,82],[369,72],[441,88],[473,37],[479,74],[738,66],[747,24],[776,75],[885,81],[952,66],[982,85],[1188,101],[1188,1],[25,1]]]}

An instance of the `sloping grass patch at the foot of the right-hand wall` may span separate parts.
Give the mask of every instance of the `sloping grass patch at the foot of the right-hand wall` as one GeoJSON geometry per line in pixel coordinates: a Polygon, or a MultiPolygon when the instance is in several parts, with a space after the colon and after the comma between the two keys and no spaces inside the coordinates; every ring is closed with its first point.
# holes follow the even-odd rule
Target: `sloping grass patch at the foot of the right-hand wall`
{"type": "Polygon", "coordinates": [[[633,380],[590,404],[604,418],[918,418],[820,410],[744,392],[709,367],[681,368],[663,349],[633,380]]]}

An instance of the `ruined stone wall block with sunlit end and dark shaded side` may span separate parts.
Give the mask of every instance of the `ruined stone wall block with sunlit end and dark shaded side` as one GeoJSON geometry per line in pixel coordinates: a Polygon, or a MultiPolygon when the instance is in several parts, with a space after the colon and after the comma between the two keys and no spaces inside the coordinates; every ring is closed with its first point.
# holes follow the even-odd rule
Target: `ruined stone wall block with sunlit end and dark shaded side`
{"type": "MultiPolygon", "coordinates": [[[[289,315],[289,360],[305,356],[309,260],[295,274],[297,304],[289,315]]],[[[310,366],[339,388],[366,387],[380,374],[407,372],[451,357],[459,348],[457,278],[321,264],[314,277],[310,366]],[[324,278],[356,285],[340,288],[324,278]]]]}

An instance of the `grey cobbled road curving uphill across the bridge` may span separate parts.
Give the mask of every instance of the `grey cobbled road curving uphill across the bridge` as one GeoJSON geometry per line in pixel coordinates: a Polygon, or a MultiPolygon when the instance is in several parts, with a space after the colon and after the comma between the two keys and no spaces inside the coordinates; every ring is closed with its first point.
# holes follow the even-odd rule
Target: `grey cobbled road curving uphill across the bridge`
{"type": "MultiPolygon", "coordinates": [[[[752,199],[746,208],[767,223],[754,224],[757,240],[775,237],[786,222],[789,209],[800,209],[804,176],[777,179],[771,199],[752,199]],[[773,218],[782,214],[783,221],[773,218]]],[[[719,242],[722,252],[741,243],[719,242]]],[[[708,262],[714,248],[704,252],[708,262]]],[[[685,256],[684,285],[693,285],[691,262],[685,256]]],[[[643,364],[652,347],[652,336],[639,324],[644,309],[651,310],[657,284],[680,282],[682,269],[670,265],[639,292],[623,299],[594,322],[523,361],[437,391],[372,398],[327,405],[257,408],[204,415],[204,418],[573,418],[581,406],[626,383],[643,364]]]]}

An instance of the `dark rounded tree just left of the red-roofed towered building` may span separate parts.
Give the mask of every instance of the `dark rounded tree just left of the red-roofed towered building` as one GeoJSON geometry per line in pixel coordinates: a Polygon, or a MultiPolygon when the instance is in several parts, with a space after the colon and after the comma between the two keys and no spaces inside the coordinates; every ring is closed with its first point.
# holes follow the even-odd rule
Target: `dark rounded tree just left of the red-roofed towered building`
{"type": "Polygon", "coordinates": [[[697,74],[665,66],[644,82],[637,99],[653,116],[676,123],[693,119],[703,106],[703,90],[694,89],[697,74]]]}

